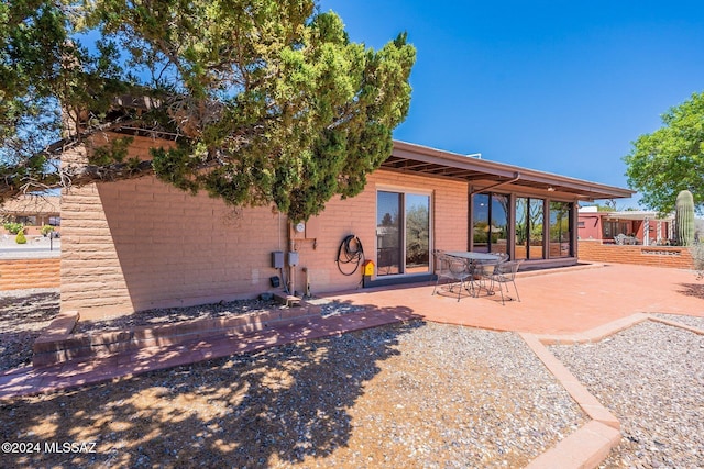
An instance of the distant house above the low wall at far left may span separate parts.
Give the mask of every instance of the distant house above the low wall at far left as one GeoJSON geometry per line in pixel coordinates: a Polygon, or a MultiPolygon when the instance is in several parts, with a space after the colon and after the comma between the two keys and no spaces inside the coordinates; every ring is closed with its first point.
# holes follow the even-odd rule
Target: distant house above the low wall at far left
{"type": "Polygon", "coordinates": [[[30,227],[31,234],[38,233],[44,225],[61,226],[61,197],[24,196],[9,200],[0,205],[0,221],[22,223],[30,227]]]}

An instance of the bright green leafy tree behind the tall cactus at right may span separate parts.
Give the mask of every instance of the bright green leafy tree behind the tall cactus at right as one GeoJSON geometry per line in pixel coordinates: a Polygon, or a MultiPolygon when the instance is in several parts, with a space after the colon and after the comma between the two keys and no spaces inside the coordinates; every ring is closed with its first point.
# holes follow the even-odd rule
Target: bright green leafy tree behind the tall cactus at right
{"type": "Polygon", "coordinates": [[[694,93],[662,115],[663,126],[638,137],[624,160],[629,186],[641,203],[671,213],[676,194],[691,190],[695,208],[704,203],[704,93],[694,93]]]}

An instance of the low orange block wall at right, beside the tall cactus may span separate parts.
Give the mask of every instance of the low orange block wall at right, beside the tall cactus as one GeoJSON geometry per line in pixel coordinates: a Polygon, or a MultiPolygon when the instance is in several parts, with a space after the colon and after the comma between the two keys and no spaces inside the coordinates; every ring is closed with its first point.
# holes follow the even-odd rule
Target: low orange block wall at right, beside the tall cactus
{"type": "Polygon", "coordinates": [[[593,263],[637,264],[640,266],[692,269],[694,261],[686,247],[679,246],[620,246],[600,241],[580,239],[580,260],[593,263]]]}

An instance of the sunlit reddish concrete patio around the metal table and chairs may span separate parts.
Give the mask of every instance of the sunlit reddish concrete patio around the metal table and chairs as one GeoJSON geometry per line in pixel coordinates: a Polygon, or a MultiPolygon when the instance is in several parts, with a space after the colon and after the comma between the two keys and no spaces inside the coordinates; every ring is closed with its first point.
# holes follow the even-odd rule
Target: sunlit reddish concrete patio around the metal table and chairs
{"type": "MultiPolygon", "coordinates": [[[[704,281],[690,270],[625,264],[519,272],[520,302],[432,294],[433,284],[358,290],[330,298],[380,309],[403,306],[427,321],[541,335],[585,333],[634,313],[704,316],[704,281]]],[[[513,284],[509,283],[510,295],[513,284]]]]}

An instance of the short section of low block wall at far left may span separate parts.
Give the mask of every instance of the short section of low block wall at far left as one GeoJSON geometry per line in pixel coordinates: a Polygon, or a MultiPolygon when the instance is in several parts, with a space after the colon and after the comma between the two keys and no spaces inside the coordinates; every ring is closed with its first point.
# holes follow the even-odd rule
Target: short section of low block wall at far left
{"type": "Polygon", "coordinates": [[[61,259],[2,259],[0,260],[0,291],[28,288],[58,288],[61,259]]]}

